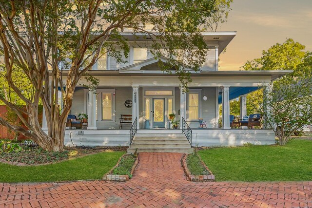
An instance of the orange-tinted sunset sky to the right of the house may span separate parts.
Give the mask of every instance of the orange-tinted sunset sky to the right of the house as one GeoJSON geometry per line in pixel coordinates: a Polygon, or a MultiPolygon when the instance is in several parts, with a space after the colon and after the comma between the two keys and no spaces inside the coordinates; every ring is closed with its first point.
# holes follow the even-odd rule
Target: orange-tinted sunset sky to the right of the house
{"type": "Polygon", "coordinates": [[[234,0],[218,31],[237,31],[219,70],[239,70],[275,43],[292,38],[312,51],[312,0],[234,0]]]}

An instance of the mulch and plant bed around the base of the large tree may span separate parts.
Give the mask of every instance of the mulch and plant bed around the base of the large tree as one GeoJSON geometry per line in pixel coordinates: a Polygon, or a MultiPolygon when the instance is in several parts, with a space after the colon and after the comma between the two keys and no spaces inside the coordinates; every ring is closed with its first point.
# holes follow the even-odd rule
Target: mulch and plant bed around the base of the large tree
{"type": "Polygon", "coordinates": [[[95,154],[101,151],[125,151],[127,147],[110,147],[110,148],[88,148],[88,147],[65,147],[61,152],[44,151],[39,147],[26,147],[20,145],[22,151],[19,152],[3,152],[0,153],[0,162],[12,165],[44,165],[56,163],[72,158],[77,158],[89,154],[95,154]]]}

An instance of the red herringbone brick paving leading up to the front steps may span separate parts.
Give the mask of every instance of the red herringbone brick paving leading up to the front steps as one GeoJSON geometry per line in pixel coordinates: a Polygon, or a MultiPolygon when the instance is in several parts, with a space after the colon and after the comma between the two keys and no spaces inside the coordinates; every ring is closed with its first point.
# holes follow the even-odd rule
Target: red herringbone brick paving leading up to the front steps
{"type": "Polygon", "coordinates": [[[181,157],[179,153],[140,153],[128,182],[0,184],[0,208],[312,208],[312,182],[193,183],[186,180],[181,157]]]}

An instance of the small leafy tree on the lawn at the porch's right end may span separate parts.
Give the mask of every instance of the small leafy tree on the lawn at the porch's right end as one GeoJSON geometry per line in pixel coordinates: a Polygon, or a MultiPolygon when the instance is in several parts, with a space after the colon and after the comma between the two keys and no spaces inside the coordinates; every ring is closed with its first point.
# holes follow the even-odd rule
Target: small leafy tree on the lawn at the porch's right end
{"type": "Polygon", "coordinates": [[[264,89],[259,113],[267,128],[273,129],[279,145],[285,145],[294,132],[312,123],[312,77],[284,77],[264,89]]]}

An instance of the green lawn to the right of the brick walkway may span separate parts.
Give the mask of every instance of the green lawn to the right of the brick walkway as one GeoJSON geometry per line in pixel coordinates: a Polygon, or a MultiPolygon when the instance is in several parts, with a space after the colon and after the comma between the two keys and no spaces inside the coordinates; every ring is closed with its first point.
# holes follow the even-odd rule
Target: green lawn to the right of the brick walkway
{"type": "Polygon", "coordinates": [[[198,151],[217,181],[311,181],[312,141],[198,151]]]}

